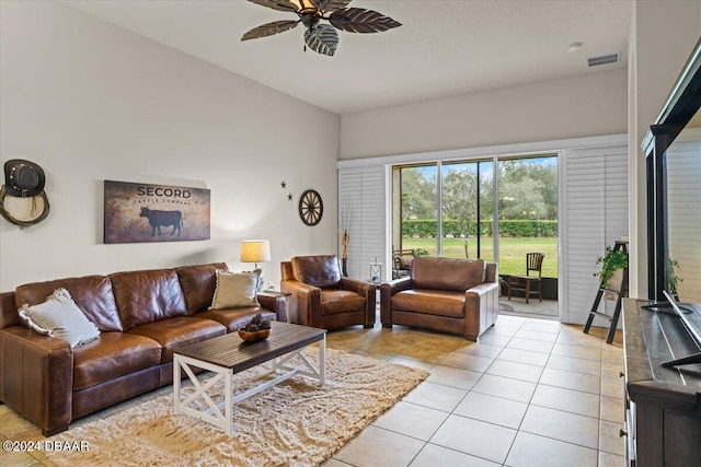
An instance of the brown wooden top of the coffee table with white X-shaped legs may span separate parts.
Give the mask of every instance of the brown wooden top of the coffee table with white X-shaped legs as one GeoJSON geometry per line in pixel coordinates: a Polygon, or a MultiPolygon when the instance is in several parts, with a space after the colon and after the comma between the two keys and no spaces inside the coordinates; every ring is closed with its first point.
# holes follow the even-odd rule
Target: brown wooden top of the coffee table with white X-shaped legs
{"type": "Polygon", "coordinates": [[[304,348],[324,339],[326,329],[292,325],[281,322],[271,323],[271,336],[261,342],[244,342],[238,332],[175,347],[173,353],[208,362],[242,372],[292,350],[304,348]]]}

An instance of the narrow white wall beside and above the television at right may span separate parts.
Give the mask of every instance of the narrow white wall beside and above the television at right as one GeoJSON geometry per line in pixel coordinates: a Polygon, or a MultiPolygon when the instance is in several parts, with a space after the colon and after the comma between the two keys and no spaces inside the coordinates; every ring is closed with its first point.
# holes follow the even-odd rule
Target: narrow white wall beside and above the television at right
{"type": "Polygon", "coordinates": [[[647,205],[641,143],[701,36],[701,2],[637,1],[630,35],[630,294],[647,296],[647,205]]]}

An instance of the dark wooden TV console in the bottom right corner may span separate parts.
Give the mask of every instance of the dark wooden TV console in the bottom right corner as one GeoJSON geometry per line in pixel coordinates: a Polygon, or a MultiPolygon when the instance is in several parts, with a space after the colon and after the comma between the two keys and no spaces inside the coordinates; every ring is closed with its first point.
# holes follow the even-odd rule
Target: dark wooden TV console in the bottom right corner
{"type": "Polygon", "coordinates": [[[625,465],[700,467],[701,364],[660,366],[700,350],[678,317],[648,303],[623,301],[625,465]]]}

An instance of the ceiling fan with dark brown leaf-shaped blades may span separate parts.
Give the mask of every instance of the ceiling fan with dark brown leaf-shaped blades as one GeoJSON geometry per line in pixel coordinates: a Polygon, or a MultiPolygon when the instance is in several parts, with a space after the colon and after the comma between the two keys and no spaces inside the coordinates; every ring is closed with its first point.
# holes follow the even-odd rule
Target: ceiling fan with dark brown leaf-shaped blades
{"type": "Polygon", "coordinates": [[[364,8],[347,8],[352,0],[249,0],[278,11],[289,11],[299,20],[281,20],[254,27],[241,37],[241,40],[257,39],[291,30],[302,23],[304,31],[304,50],[333,56],[338,46],[337,30],[350,33],[381,33],[401,23],[377,11],[364,8]],[[329,13],[329,15],[325,15],[329,13]],[[321,20],[331,24],[320,23],[321,20]],[[335,28],[334,28],[335,27],[335,28]]]}

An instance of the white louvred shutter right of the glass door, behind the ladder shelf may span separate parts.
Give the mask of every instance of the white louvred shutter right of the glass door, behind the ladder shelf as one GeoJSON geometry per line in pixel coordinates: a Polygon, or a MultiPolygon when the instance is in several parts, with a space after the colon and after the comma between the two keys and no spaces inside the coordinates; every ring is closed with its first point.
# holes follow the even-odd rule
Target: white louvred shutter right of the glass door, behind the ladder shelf
{"type": "MultiPolygon", "coordinates": [[[[586,322],[599,282],[594,276],[607,245],[628,235],[628,151],[625,147],[571,150],[563,154],[565,199],[561,202],[565,221],[565,323],[586,322]]],[[[602,301],[600,312],[613,313],[614,302],[602,301]]],[[[608,327],[597,317],[595,326],[608,327]]]]}

